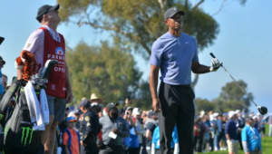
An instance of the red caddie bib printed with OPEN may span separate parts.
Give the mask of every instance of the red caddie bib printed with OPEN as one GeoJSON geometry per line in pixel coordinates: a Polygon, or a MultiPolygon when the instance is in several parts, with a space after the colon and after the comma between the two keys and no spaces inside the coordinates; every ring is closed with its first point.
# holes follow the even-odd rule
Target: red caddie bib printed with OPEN
{"type": "Polygon", "coordinates": [[[48,77],[48,83],[45,92],[46,95],[56,98],[66,98],[66,80],[65,80],[65,42],[62,34],[61,43],[55,41],[46,28],[44,30],[44,64],[47,60],[57,60],[59,63],[53,67],[48,77]]]}

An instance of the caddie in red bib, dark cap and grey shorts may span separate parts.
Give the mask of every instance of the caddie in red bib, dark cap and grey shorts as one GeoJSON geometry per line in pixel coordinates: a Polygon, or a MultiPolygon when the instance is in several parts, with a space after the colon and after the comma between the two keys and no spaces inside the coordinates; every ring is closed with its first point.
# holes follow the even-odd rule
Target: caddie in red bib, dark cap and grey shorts
{"type": "MultiPolygon", "coordinates": [[[[53,153],[55,131],[59,121],[64,120],[65,106],[73,100],[68,65],[65,62],[65,41],[62,34],[57,33],[61,22],[60,5],[43,5],[39,8],[36,20],[41,27],[36,29],[26,41],[23,51],[34,54],[38,69],[44,67],[47,60],[57,60],[46,84],[46,95],[50,113],[50,124],[46,125],[41,141],[45,154],[53,153]]],[[[18,80],[22,70],[18,70],[18,80]]]]}

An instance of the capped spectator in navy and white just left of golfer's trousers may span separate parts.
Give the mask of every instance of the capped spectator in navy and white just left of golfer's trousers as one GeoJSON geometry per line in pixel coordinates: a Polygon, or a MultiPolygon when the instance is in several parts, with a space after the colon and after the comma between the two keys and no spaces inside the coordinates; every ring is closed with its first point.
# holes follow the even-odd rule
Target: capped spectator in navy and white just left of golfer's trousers
{"type": "Polygon", "coordinates": [[[151,141],[152,135],[156,127],[158,126],[158,116],[154,111],[149,111],[148,120],[145,121],[146,123],[146,150],[148,154],[151,154],[151,141]]]}

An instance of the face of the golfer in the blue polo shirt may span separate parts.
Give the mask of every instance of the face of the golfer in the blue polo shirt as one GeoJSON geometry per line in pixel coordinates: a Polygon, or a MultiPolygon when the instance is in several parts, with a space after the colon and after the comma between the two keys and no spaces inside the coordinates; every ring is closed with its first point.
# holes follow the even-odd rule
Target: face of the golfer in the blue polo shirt
{"type": "Polygon", "coordinates": [[[182,27],[183,16],[179,13],[174,14],[172,17],[170,17],[166,21],[164,21],[164,23],[167,24],[174,31],[178,31],[182,27]]]}

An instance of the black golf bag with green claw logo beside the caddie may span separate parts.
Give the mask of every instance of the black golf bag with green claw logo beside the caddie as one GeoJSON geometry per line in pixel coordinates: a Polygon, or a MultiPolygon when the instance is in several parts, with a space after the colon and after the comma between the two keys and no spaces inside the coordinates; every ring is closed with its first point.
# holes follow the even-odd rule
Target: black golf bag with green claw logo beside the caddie
{"type": "MultiPolygon", "coordinates": [[[[58,62],[48,60],[45,63],[44,68],[40,69],[38,74],[34,74],[31,77],[30,81],[38,87],[38,90],[35,91],[38,100],[40,99],[41,89],[46,88],[44,84],[48,82],[49,72],[56,63],[58,62]]],[[[33,130],[34,123],[31,122],[30,118],[30,111],[24,92],[25,82],[26,81],[21,80],[12,86],[15,90],[5,93],[0,104],[0,118],[2,117],[0,123],[2,126],[5,125],[4,144],[2,146],[3,153],[5,154],[35,154],[40,144],[40,131],[33,130]],[[7,122],[5,123],[7,107],[16,92],[15,108],[10,116],[8,116],[8,118],[10,118],[7,119],[7,122]]]]}

